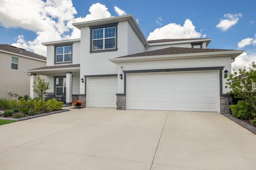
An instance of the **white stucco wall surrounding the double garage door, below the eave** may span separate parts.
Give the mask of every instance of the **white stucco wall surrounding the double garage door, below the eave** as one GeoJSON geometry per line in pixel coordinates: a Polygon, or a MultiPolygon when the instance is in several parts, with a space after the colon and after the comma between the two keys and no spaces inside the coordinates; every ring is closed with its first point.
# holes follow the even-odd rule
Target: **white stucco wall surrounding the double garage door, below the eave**
{"type": "MultiPolygon", "coordinates": [[[[118,63],[118,74],[122,73],[121,66],[124,70],[153,70],[167,68],[197,68],[197,67],[217,67],[224,66],[224,70],[231,71],[231,57],[206,57],[190,59],[172,59],[158,61],[137,61],[118,63]]],[[[222,70],[222,90],[223,94],[228,92],[225,88],[227,80],[224,78],[222,70]]],[[[123,73],[122,73],[123,74],[123,73]]],[[[124,81],[118,79],[118,93],[124,93],[124,81]]]]}

